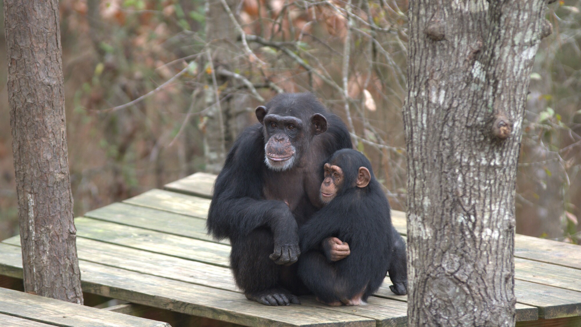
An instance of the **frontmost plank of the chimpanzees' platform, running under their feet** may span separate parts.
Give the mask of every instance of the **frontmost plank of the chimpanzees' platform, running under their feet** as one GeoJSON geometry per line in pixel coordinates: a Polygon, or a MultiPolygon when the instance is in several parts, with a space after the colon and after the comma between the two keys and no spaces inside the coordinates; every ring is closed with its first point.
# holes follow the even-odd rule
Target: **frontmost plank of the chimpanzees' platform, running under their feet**
{"type": "MultiPolygon", "coordinates": [[[[267,307],[242,294],[79,261],[85,292],[246,326],[375,326],[373,319],[308,305],[267,307]]],[[[20,248],[0,243],[0,273],[22,274],[20,248]]]]}

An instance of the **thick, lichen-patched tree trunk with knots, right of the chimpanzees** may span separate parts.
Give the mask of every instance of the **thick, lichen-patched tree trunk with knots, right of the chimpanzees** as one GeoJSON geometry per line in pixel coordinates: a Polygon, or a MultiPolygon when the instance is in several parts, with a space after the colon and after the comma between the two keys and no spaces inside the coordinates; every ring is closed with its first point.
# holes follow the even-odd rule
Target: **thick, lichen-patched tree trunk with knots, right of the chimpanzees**
{"type": "Polygon", "coordinates": [[[514,326],[514,192],[542,0],[410,1],[408,325],[514,326]],[[490,3],[489,3],[490,2],[490,3]]]}

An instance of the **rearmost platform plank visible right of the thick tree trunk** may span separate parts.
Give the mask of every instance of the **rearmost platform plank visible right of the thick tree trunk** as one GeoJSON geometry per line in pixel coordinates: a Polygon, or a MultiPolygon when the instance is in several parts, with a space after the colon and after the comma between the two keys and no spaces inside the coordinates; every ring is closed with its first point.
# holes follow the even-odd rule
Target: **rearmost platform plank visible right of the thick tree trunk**
{"type": "Polygon", "coordinates": [[[517,234],[514,256],[581,269],[581,246],[517,234]]]}

